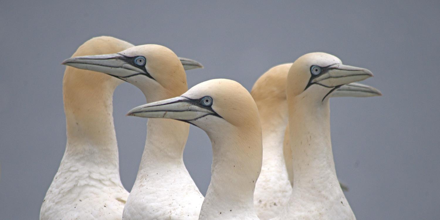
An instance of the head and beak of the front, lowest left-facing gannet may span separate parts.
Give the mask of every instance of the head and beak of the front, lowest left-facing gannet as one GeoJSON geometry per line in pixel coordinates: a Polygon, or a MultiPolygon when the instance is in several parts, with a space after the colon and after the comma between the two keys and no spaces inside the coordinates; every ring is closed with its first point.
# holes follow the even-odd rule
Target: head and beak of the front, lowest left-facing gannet
{"type": "Polygon", "coordinates": [[[185,121],[207,133],[260,126],[252,96],[241,84],[227,79],[202,82],[183,95],[138,106],[127,115],[185,121]]]}

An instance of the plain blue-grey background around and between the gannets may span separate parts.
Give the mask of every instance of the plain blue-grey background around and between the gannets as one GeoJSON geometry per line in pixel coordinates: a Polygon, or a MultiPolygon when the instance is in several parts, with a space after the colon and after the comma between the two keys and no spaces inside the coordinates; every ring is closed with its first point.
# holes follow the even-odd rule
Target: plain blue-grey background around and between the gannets
{"type": "MultiPolygon", "coordinates": [[[[37,219],[65,150],[62,60],[110,35],[162,44],[196,59],[190,87],[229,78],[252,88],[270,67],[313,51],[365,67],[375,98],[331,100],[338,177],[357,218],[438,219],[440,2],[1,1],[0,219],[37,219]]],[[[114,120],[121,179],[130,190],[146,120],[125,117],[143,94],[121,84],[114,120]]],[[[205,193],[211,147],[191,126],[185,164],[205,193]]]]}

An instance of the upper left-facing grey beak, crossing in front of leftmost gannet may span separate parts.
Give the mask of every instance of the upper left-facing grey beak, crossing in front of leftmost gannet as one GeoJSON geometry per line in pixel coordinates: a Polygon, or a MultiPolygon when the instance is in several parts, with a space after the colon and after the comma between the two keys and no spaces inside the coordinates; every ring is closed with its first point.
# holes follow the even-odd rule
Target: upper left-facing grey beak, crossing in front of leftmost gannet
{"type": "Polygon", "coordinates": [[[139,74],[152,78],[144,66],[134,66],[133,58],[119,54],[78,56],[64,60],[61,64],[78,69],[106,73],[114,77],[128,78],[139,74]]]}

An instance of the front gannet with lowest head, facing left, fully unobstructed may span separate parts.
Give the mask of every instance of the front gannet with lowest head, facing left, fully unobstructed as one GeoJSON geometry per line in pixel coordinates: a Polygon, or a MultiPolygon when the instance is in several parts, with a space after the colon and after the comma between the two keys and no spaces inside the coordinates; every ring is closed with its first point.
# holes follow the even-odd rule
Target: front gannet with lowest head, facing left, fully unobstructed
{"type": "Polygon", "coordinates": [[[209,136],[212,176],[200,220],[258,219],[253,192],[261,168],[261,125],[257,105],[241,84],[205,81],[176,98],[138,106],[128,115],[185,121],[209,136]]]}

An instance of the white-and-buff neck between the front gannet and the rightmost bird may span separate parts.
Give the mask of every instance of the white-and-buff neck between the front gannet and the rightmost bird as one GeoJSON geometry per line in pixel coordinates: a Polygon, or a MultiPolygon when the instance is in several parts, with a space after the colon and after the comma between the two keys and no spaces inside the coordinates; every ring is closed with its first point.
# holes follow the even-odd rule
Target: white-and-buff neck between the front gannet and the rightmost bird
{"type": "Polygon", "coordinates": [[[268,220],[279,215],[292,192],[283,154],[287,102],[282,100],[270,106],[256,103],[263,133],[263,163],[255,186],[254,205],[258,217],[268,220]]]}

